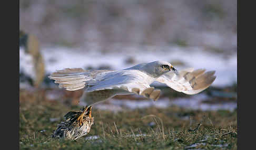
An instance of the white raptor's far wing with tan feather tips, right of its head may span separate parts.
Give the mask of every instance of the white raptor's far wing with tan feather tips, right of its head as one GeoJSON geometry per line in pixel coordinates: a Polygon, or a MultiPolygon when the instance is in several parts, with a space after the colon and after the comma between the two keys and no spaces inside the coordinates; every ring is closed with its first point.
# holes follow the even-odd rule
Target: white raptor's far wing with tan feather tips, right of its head
{"type": "Polygon", "coordinates": [[[168,72],[156,79],[168,87],[185,94],[196,94],[208,88],[215,80],[215,71],[205,72],[205,69],[188,68],[179,73],[168,72]]]}

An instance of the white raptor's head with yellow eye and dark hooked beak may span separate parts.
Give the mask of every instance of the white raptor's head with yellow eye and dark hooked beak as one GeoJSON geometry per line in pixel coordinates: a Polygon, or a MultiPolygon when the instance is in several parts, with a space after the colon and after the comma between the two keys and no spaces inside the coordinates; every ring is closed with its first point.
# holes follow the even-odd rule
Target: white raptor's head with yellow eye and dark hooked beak
{"type": "Polygon", "coordinates": [[[153,61],[145,65],[145,71],[152,74],[153,77],[160,77],[169,71],[177,71],[169,62],[153,61]]]}

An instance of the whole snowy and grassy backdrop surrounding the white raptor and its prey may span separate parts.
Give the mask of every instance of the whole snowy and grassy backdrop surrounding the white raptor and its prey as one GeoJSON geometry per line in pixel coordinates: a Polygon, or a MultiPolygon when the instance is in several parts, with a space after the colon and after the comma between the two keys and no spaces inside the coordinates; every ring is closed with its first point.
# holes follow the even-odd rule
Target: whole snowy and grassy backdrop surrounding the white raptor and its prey
{"type": "Polygon", "coordinates": [[[196,148],[201,143],[201,149],[237,149],[236,135],[237,1],[19,1],[22,148],[112,149],[109,145],[126,144],[124,147],[133,145],[131,149],[186,149],[184,146],[196,148]],[[216,79],[195,95],[154,82],[152,86],[161,89],[156,102],[136,94],[115,96],[93,106],[94,125],[82,142],[47,140],[68,111],[81,109],[83,94],[83,89],[58,88],[47,78],[52,72],[64,68],[119,70],[155,60],[168,61],[178,70],[215,70],[216,79]],[[163,120],[162,132],[159,120],[145,118],[149,115],[163,120]],[[133,138],[113,138],[131,137],[131,129],[137,142],[135,137],[135,142],[133,138]],[[87,138],[101,144],[90,145],[87,138]],[[177,147],[170,148],[173,145],[177,147]]]}

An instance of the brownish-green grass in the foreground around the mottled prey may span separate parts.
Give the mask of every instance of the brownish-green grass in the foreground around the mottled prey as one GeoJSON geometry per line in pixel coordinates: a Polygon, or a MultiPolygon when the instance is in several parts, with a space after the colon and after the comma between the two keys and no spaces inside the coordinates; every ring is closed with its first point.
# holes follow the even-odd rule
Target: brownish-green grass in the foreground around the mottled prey
{"type": "Polygon", "coordinates": [[[44,92],[20,91],[19,148],[237,149],[237,111],[187,110],[178,106],[117,113],[93,108],[94,125],[86,136],[76,141],[51,138],[63,116],[80,108],[60,100],[49,101],[44,92]],[[96,140],[86,138],[94,135],[96,140]]]}

